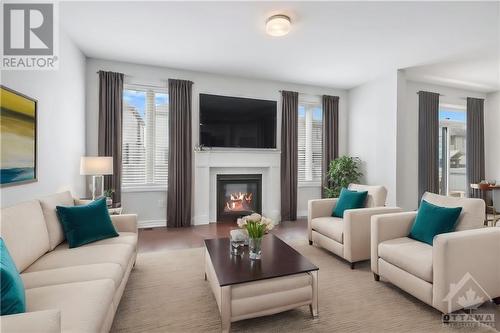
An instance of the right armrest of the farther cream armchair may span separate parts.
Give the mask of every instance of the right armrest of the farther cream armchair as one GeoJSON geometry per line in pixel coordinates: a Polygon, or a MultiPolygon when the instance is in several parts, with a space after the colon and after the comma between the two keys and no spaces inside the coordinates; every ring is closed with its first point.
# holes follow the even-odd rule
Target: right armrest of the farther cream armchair
{"type": "Polygon", "coordinates": [[[344,211],[344,258],[349,262],[370,259],[371,217],[401,211],[399,207],[373,207],[344,211]]]}

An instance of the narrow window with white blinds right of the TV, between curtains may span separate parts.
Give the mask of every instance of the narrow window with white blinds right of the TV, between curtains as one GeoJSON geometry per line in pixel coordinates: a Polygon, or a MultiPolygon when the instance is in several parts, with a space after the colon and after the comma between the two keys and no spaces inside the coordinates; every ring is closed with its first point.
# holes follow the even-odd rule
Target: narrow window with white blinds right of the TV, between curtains
{"type": "Polygon", "coordinates": [[[321,184],[323,154],[323,112],[321,101],[299,100],[298,182],[321,184]]]}

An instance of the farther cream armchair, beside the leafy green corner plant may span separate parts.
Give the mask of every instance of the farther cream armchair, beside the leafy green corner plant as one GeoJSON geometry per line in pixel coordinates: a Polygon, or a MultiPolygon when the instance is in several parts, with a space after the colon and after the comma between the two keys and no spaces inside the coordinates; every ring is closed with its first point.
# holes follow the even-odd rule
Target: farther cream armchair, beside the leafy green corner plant
{"type": "Polygon", "coordinates": [[[350,209],[344,218],[332,217],[338,198],[309,200],[307,229],[313,243],[354,264],[370,259],[370,219],[374,215],[401,212],[384,207],[387,190],[383,186],[350,184],[350,190],[368,191],[366,208],[350,209]]]}

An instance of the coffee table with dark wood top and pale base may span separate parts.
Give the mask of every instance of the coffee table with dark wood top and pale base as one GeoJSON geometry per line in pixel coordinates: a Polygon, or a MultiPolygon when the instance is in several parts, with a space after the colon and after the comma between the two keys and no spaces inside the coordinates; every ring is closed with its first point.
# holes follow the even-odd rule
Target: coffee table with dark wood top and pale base
{"type": "Polygon", "coordinates": [[[278,237],[262,240],[262,258],[230,254],[229,238],[206,239],[205,279],[210,282],[222,319],[231,322],[309,305],[318,315],[318,267],[278,237]]]}

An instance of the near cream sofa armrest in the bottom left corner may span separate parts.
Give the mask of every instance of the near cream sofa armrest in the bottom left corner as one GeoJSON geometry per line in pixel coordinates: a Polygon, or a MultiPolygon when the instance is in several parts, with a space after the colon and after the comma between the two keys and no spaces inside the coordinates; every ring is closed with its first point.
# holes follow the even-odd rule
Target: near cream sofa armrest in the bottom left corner
{"type": "Polygon", "coordinates": [[[61,333],[61,311],[44,310],[0,317],[0,331],[12,333],[61,333]]]}

